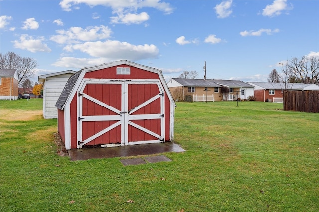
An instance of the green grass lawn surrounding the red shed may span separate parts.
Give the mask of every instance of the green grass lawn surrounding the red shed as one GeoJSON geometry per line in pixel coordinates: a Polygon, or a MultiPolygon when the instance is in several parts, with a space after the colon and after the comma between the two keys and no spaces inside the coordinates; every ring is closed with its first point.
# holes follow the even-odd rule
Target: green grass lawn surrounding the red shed
{"type": "Polygon", "coordinates": [[[0,210],[316,212],[319,113],[282,108],[177,103],[175,142],[187,151],[165,153],[172,162],[123,166],[119,158],[58,156],[56,119],[8,115],[41,111],[41,99],[0,101],[0,210]]]}

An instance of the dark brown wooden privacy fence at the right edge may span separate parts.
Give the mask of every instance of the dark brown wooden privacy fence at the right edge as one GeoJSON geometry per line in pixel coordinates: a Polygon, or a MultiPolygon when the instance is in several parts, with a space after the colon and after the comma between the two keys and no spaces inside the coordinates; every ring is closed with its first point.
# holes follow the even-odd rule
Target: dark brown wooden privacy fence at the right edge
{"type": "Polygon", "coordinates": [[[284,110],[319,112],[319,91],[284,91],[284,110]]]}

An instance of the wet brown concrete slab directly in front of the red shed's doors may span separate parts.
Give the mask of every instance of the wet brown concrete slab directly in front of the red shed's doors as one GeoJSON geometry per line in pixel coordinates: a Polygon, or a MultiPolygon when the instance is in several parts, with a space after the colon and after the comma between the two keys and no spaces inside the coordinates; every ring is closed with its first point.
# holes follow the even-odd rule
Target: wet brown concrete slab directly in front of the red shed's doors
{"type": "Polygon", "coordinates": [[[139,144],[119,147],[93,147],[71,149],[68,151],[71,161],[93,158],[114,158],[139,155],[153,155],[164,152],[185,152],[183,148],[172,142],[139,144]]]}

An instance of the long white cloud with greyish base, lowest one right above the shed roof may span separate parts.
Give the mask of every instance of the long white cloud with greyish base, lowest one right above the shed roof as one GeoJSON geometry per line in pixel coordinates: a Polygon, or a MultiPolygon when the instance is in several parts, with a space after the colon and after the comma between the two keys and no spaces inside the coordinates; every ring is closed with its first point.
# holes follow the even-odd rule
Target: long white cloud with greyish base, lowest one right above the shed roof
{"type": "Polygon", "coordinates": [[[155,58],[159,54],[159,49],[151,44],[133,45],[127,42],[116,40],[85,42],[82,44],[69,45],[64,50],[78,50],[89,54],[92,57],[101,57],[111,60],[131,60],[137,61],[147,58],[155,58]]]}

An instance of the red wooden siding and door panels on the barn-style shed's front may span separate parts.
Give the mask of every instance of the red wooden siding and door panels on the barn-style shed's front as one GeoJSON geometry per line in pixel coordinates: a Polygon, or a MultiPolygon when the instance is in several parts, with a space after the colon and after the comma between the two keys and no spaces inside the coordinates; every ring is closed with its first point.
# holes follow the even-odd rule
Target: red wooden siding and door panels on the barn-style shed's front
{"type": "MultiPolygon", "coordinates": [[[[113,66],[113,67],[108,67],[108,68],[104,68],[104,69],[100,69],[100,70],[93,70],[93,71],[88,71],[84,74],[84,77],[82,80],[88,80],[88,79],[96,79],[96,80],[103,80],[103,79],[107,79],[107,80],[113,80],[113,81],[123,81],[123,80],[128,80],[128,82],[132,79],[136,79],[136,80],[143,80],[143,79],[155,79],[155,80],[160,80],[159,78],[159,74],[154,73],[154,72],[150,72],[150,71],[146,71],[146,70],[141,70],[139,68],[133,67],[133,66],[129,66],[129,65],[117,65],[117,66],[113,66]],[[116,68],[117,67],[130,67],[130,74],[129,75],[117,75],[116,74],[116,68]]],[[[105,102],[106,100],[103,99],[104,95],[103,92],[105,91],[112,91],[112,93],[114,94],[114,96],[112,97],[112,100],[110,100],[110,104],[117,108],[118,110],[121,111],[121,108],[119,108],[119,106],[121,105],[121,85],[120,87],[118,87],[118,84],[87,84],[85,87],[85,90],[83,91],[84,93],[92,96],[93,98],[100,100],[102,102],[105,102]]],[[[156,84],[129,84],[129,93],[134,94],[135,97],[131,98],[131,101],[129,101],[129,104],[131,104],[131,106],[136,106],[134,105],[134,101],[135,104],[141,104],[144,101],[146,101],[148,98],[152,97],[152,95],[158,95],[159,94],[159,90],[157,88],[156,84]],[[140,94],[137,95],[137,99],[136,99],[136,94],[140,94]]],[[[167,91],[166,91],[167,92],[167,91]]],[[[165,92],[165,93],[166,93],[165,92]]],[[[169,92],[169,91],[168,91],[169,92]]],[[[76,93],[77,94],[77,93],[76,93]]],[[[130,97],[128,97],[130,98],[130,97]]],[[[70,133],[70,143],[67,144],[66,143],[66,148],[67,149],[76,149],[78,148],[78,141],[77,141],[77,123],[78,123],[78,115],[77,115],[77,107],[78,107],[78,97],[77,95],[74,95],[72,97],[72,100],[70,102],[69,108],[68,106],[65,106],[64,108],[64,115],[67,116],[67,113],[69,113],[69,121],[68,118],[65,118],[65,125],[70,125],[70,129],[66,129],[63,133],[65,133],[65,136],[68,135],[68,133],[70,133]],[[68,146],[69,145],[69,146],[68,146]]],[[[170,129],[171,127],[173,127],[173,123],[171,123],[170,121],[170,116],[172,115],[173,117],[173,113],[174,111],[171,111],[171,100],[170,98],[167,96],[167,94],[165,94],[164,96],[164,100],[165,100],[165,114],[164,114],[164,119],[165,119],[165,134],[164,134],[164,139],[166,141],[171,140],[171,138],[173,138],[173,135],[170,135],[170,133],[173,133],[170,129]]],[[[150,113],[159,113],[159,107],[160,106],[155,106],[159,103],[159,99],[155,100],[154,103],[150,103],[149,105],[145,106],[143,108],[144,112],[150,112],[150,113]]],[[[86,100],[85,98],[83,98],[83,116],[86,115],[92,115],[91,112],[95,111],[96,113],[94,115],[97,114],[103,114],[103,115],[108,115],[108,113],[110,114],[111,112],[108,111],[106,108],[102,108],[101,106],[98,106],[94,103],[92,103],[91,101],[86,100]],[[92,109],[94,108],[94,109],[92,109]]],[[[160,104],[158,104],[160,105],[160,104]]],[[[142,111],[136,111],[137,113],[140,113],[142,111]]],[[[138,125],[145,127],[151,131],[154,131],[155,133],[160,134],[160,122],[159,120],[152,120],[152,122],[150,122],[150,120],[137,120],[137,121],[132,121],[133,123],[137,123],[138,125]]],[[[100,132],[102,128],[107,127],[106,124],[111,125],[112,122],[110,123],[104,123],[103,121],[97,121],[97,123],[86,123],[83,122],[82,124],[82,140],[85,140],[86,138],[89,138],[90,136],[96,134],[97,132],[100,132]]],[[[132,126],[128,126],[128,130],[134,131],[137,130],[136,128],[132,127],[132,126]]],[[[113,129],[112,129],[113,130],[113,129]]],[[[110,139],[105,139],[106,137],[109,137],[112,139],[112,143],[114,143],[114,141],[121,143],[121,138],[118,137],[117,131],[120,130],[120,128],[115,128],[113,131],[107,132],[95,139],[93,139],[92,141],[90,141],[89,143],[87,143],[86,145],[97,145],[97,144],[101,144],[102,140],[110,140],[110,139]]],[[[61,132],[60,132],[61,133],[61,132]]],[[[145,133],[131,133],[131,137],[129,137],[128,139],[130,141],[135,141],[135,140],[144,140],[144,139],[148,139],[147,138],[148,135],[145,135],[145,133]],[[144,136],[143,138],[141,136],[144,136]]],[[[150,140],[152,140],[151,138],[152,136],[150,135],[150,140]]],[[[67,140],[67,139],[66,139],[67,140]]]]}

